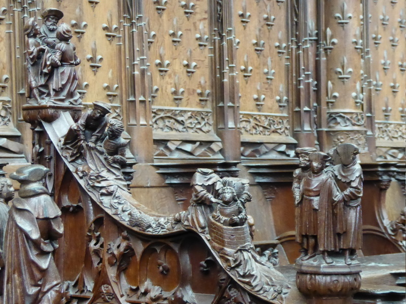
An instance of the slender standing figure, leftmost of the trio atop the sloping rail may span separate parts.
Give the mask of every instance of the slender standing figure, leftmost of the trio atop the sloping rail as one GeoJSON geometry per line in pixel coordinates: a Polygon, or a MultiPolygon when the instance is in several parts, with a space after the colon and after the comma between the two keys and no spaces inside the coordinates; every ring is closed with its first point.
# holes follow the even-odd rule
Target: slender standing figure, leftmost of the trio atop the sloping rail
{"type": "Polygon", "coordinates": [[[45,102],[41,99],[38,88],[41,84],[41,58],[45,52],[46,46],[41,45],[41,41],[38,38],[39,34],[40,27],[38,26],[37,21],[35,18],[29,18],[24,24],[24,35],[27,36],[25,43],[27,68],[25,97],[30,99],[33,98],[33,100],[28,100],[28,103],[36,102],[38,104],[43,104],[45,102]]]}

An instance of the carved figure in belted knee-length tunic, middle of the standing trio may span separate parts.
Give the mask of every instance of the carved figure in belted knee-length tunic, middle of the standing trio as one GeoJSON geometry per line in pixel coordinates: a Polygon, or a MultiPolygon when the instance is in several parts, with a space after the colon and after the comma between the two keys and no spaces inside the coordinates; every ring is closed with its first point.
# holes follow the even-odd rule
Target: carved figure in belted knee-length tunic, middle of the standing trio
{"type": "MultiPolygon", "coordinates": [[[[300,184],[299,201],[301,204],[301,217],[298,219],[298,230],[301,238],[307,244],[307,255],[301,260],[308,260],[316,255],[318,235],[318,210],[321,188],[326,180],[324,168],[329,156],[322,152],[309,155],[310,171],[300,184]]],[[[325,255],[327,257],[327,253],[325,255]]],[[[330,260],[328,260],[330,262],[330,260]]]]}

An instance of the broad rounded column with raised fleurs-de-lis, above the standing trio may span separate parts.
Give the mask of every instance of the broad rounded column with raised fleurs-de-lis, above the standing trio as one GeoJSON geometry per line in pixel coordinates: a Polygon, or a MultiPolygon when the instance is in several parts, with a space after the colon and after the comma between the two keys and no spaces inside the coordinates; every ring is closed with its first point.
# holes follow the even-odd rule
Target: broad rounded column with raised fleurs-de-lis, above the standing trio
{"type": "Polygon", "coordinates": [[[320,148],[343,143],[367,150],[364,113],[363,10],[359,1],[318,1],[320,148]]]}

